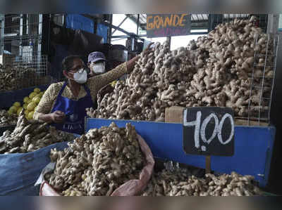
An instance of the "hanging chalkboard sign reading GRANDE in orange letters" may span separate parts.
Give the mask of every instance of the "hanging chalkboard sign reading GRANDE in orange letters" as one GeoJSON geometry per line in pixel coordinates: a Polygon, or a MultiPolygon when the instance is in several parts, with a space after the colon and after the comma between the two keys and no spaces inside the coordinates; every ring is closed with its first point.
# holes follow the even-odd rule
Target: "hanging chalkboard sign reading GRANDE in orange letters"
{"type": "Polygon", "coordinates": [[[191,15],[154,14],[147,15],[147,37],[173,37],[190,34],[191,15]]]}

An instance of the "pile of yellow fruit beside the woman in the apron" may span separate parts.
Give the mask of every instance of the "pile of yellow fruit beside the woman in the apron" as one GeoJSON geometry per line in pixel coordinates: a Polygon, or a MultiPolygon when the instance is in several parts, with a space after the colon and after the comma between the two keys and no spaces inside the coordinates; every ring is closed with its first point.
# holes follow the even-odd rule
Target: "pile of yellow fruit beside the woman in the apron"
{"type": "Polygon", "coordinates": [[[38,103],[40,102],[44,91],[40,91],[39,88],[35,88],[29,96],[23,99],[23,107],[20,102],[15,102],[8,110],[8,114],[20,114],[21,110],[25,110],[25,118],[33,119],[33,113],[38,103]]]}

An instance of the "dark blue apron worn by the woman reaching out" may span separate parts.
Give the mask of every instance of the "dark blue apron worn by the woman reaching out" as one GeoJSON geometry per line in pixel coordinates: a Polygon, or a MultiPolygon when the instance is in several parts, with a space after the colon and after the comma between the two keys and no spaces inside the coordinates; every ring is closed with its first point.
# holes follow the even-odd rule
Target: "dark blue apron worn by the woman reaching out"
{"type": "Polygon", "coordinates": [[[61,91],[59,92],[58,98],[56,100],[56,103],[54,104],[52,112],[55,111],[61,111],[66,114],[66,119],[62,124],[51,124],[52,126],[55,126],[56,129],[59,129],[61,131],[66,131],[68,133],[77,133],[77,134],[83,134],[84,133],[84,121],[86,114],[86,108],[94,107],[94,103],[92,101],[91,95],[90,95],[90,89],[83,84],[83,87],[86,91],[86,96],[83,98],[80,98],[79,100],[71,100],[69,98],[61,96],[63,93],[63,90],[66,88],[66,81],[63,84],[63,87],[61,88],[61,91]]]}

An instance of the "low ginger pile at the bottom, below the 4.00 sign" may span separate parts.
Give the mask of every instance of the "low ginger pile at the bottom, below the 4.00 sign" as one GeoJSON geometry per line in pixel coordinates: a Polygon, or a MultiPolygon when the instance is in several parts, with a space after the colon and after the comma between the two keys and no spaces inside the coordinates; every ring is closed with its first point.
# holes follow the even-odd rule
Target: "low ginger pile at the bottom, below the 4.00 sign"
{"type": "Polygon", "coordinates": [[[155,173],[143,196],[251,196],[261,195],[252,176],[238,173],[214,176],[206,174],[205,178],[190,176],[187,169],[175,171],[163,170],[155,173]]]}

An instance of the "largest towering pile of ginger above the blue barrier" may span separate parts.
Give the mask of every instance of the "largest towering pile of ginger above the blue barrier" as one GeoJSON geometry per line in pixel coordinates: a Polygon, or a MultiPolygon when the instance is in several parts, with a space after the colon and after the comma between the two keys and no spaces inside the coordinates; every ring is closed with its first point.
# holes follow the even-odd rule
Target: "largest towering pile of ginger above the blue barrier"
{"type": "MultiPolygon", "coordinates": [[[[251,116],[259,109],[267,110],[260,93],[264,63],[271,66],[274,61],[274,42],[255,21],[253,16],[222,23],[207,37],[175,51],[166,42],[157,43],[152,51],[141,54],[126,84],[117,82],[114,92],[100,98],[97,110],[89,108],[87,114],[162,122],[166,107],[218,106],[233,108],[235,117],[246,117],[249,99],[251,116]],[[251,94],[252,73],[256,88],[251,94]]],[[[266,67],[264,76],[262,96],[267,98],[273,69],[266,67]]]]}

